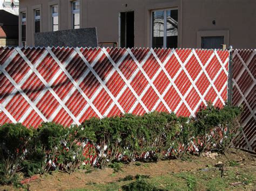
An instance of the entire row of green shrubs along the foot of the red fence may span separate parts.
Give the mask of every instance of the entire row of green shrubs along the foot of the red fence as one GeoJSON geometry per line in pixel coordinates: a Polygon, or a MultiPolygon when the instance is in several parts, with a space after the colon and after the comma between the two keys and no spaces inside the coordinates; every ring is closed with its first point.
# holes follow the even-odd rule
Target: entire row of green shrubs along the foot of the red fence
{"type": "MultiPolygon", "coordinates": [[[[194,118],[151,112],[91,118],[69,128],[55,123],[43,123],[38,129],[5,124],[0,126],[0,183],[17,181],[19,173],[25,177],[56,169],[72,173],[89,164],[91,157],[97,157],[96,166],[111,163],[115,171],[120,170],[120,162],[181,159],[192,141],[199,153],[225,153],[239,133],[240,112],[231,105],[220,109],[209,104],[194,118]]],[[[144,183],[133,182],[127,189],[144,183]]]]}

